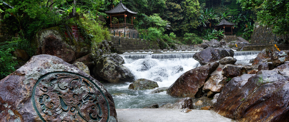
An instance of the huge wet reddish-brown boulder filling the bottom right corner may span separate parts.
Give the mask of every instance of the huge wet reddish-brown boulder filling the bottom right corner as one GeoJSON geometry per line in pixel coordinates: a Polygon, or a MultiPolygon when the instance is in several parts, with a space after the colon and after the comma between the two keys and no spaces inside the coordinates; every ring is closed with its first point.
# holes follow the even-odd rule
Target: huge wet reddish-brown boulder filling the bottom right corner
{"type": "Polygon", "coordinates": [[[289,65],[261,70],[255,76],[247,75],[235,77],[225,85],[214,111],[240,122],[289,121],[289,65]],[[247,78],[237,80],[245,76],[247,78]]]}

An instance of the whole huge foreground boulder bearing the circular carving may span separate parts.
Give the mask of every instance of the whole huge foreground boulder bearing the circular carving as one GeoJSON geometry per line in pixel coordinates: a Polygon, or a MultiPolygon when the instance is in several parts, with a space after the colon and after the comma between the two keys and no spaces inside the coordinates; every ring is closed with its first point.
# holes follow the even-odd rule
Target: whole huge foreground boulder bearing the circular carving
{"type": "Polygon", "coordinates": [[[0,118],[4,121],[117,119],[114,101],[105,87],[56,56],[33,56],[0,84],[0,118]]]}

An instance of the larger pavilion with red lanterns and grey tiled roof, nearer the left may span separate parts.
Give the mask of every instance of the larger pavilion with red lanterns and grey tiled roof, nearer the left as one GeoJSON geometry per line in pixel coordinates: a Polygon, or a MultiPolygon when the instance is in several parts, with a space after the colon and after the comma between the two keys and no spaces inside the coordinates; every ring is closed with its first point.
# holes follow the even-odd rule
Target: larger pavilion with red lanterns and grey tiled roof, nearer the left
{"type": "Polygon", "coordinates": [[[120,1],[120,3],[114,7],[112,10],[106,11],[106,14],[110,15],[110,28],[134,28],[133,25],[133,15],[138,14],[138,12],[133,12],[131,10],[129,10],[127,7],[125,7],[125,5],[123,5],[123,3],[120,1]],[[124,23],[119,23],[117,22],[117,24],[112,24],[112,17],[116,17],[117,19],[119,17],[124,17],[125,22],[124,23]],[[131,24],[127,23],[127,18],[131,17],[131,24]]]}

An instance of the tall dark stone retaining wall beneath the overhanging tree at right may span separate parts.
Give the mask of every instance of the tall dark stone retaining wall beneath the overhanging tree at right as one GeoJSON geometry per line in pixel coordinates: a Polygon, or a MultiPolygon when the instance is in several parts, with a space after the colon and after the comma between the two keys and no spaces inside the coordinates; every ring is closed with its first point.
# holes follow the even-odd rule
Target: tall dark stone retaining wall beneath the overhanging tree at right
{"type": "Polygon", "coordinates": [[[274,44],[275,39],[284,39],[284,36],[275,35],[268,26],[255,28],[251,37],[251,44],[270,43],[274,44]],[[276,37],[275,37],[276,36],[276,37]]]}

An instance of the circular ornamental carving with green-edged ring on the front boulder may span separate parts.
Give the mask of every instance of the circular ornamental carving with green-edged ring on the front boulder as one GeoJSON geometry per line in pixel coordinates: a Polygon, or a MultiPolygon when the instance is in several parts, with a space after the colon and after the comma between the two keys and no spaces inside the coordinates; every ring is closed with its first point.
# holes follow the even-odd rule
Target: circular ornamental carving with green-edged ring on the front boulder
{"type": "Polygon", "coordinates": [[[108,122],[105,95],[89,78],[71,72],[42,76],[32,91],[33,107],[43,122],[108,122]]]}

